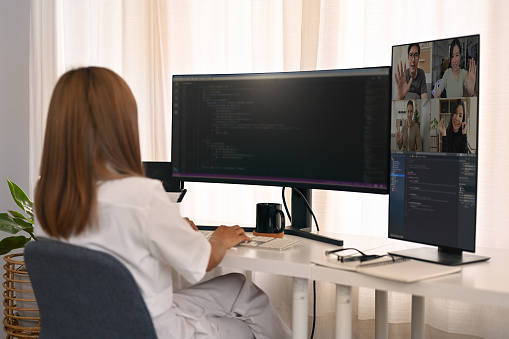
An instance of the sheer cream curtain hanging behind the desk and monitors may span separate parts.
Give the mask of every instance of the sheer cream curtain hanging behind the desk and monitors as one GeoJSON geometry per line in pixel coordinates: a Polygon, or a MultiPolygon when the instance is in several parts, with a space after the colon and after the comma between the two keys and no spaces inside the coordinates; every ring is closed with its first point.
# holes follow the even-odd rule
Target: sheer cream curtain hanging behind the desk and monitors
{"type": "MultiPolygon", "coordinates": [[[[388,65],[391,46],[481,34],[478,246],[506,248],[509,138],[504,128],[509,22],[505,1],[431,0],[32,0],[30,182],[37,178],[52,88],[66,70],[100,65],[126,79],[138,102],[144,160],[170,160],[171,75],[294,71],[388,65]],[[502,69],[502,71],[501,71],[502,69]]],[[[186,184],[183,214],[200,224],[253,225],[259,201],[278,188],[186,184]]],[[[322,230],[386,237],[388,199],[314,192],[322,230]]],[[[290,318],[289,280],[254,274],[290,318]]],[[[334,288],[318,286],[317,337],[332,337],[334,288]]],[[[374,291],[358,290],[358,338],[372,337],[374,291]]],[[[391,337],[407,337],[410,297],[390,293],[391,337]]],[[[311,314],[311,312],[310,312],[311,314]]],[[[428,337],[503,337],[507,309],[427,300],[428,337]],[[449,333],[449,335],[447,335],[449,333]]]]}

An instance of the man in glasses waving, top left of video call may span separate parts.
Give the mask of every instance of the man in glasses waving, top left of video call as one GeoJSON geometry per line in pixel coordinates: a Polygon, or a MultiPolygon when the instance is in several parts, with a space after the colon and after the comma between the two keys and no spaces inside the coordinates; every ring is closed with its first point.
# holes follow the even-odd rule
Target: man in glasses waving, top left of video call
{"type": "Polygon", "coordinates": [[[398,87],[398,94],[396,100],[407,99],[408,94],[414,94],[411,98],[414,99],[427,99],[428,92],[426,87],[426,75],[424,71],[417,66],[419,65],[419,55],[421,54],[421,47],[419,44],[411,44],[408,46],[408,65],[403,66],[403,61],[398,65],[398,69],[394,74],[396,84],[398,87]]]}

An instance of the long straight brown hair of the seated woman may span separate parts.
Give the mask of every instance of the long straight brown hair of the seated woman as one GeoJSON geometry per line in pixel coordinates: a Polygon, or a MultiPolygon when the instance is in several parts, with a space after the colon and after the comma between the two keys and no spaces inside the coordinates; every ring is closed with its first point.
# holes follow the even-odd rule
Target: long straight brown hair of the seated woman
{"type": "Polygon", "coordinates": [[[100,180],[143,176],[136,101],[100,67],[71,70],[49,105],[35,211],[51,236],[68,239],[97,221],[100,180]]]}

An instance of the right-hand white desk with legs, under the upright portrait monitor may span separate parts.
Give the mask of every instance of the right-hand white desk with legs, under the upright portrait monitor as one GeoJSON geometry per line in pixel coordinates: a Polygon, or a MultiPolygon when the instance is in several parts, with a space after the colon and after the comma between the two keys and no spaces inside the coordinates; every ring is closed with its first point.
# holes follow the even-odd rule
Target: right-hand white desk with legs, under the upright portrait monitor
{"type": "MultiPolygon", "coordinates": [[[[319,281],[337,284],[338,291],[345,294],[349,286],[362,286],[376,290],[376,338],[387,338],[387,291],[412,295],[412,338],[424,338],[424,298],[456,299],[471,303],[509,307],[509,274],[505,257],[509,251],[483,250],[480,254],[491,256],[488,262],[469,264],[461,273],[441,278],[406,284],[371,277],[356,272],[341,271],[321,266],[311,268],[311,277],[319,281]],[[505,253],[503,253],[505,252],[505,253]],[[346,292],[345,292],[346,291],[346,292]],[[381,305],[379,305],[381,304],[381,305]]],[[[350,292],[351,293],[351,292],[350,292]]],[[[348,315],[345,305],[338,302],[336,322],[344,323],[348,315]]],[[[350,306],[351,307],[351,306],[350,306]]],[[[351,313],[349,315],[351,319],[351,313]]],[[[336,338],[351,338],[351,329],[336,328],[336,338]]]]}

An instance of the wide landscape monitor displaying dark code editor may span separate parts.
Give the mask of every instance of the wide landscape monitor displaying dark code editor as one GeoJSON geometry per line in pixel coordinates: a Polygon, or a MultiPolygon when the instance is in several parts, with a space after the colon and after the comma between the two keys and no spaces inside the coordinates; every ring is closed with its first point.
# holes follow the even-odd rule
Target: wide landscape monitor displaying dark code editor
{"type": "Polygon", "coordinates": [[[173,177],[388,192],[389,67],[173,76],[173,177]]]}

